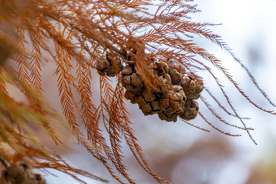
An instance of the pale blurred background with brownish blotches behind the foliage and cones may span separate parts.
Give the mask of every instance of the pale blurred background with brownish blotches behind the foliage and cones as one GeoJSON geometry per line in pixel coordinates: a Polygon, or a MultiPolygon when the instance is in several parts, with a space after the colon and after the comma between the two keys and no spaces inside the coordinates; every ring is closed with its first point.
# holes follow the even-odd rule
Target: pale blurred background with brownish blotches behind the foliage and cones
{"type": "MultiPolygon", "coordinates": [[[[222,24],[210,27],[210,30],[222,36],[223,41],[249,68],[261,88],[275,103],[276,1],[196,0],[194,3],[198,5],[197,7],[201,12],[191,15],[191,20],[222,24]]],[[[195,42],[201,48],[214,54],[223,62],[225,67],[229,68],[234,80],[256,104],[268,110],[275,109],[262,97],[246,72],[231,56],[205,38],[195,37],[195,42]]],[[[60,105],[56,103],[59,102],[56,78],[50,75],[54,73],[55,65],[45,65],[44,70],[48,71],[42,76],[45,97],[55,108],[60,109],[60,105]]],[[[160,121],[156,114],[145,117],[136,104],[133,105],[128,102],[129,118],[134,123],[132,128],[135,130],[137,139],[140,140],[140,146],[144,149],[152,170],[173,184],[276,183],[276,117],[251,105],[222,74],[215,73],[225,86],[225,90],[239,114],[242,117],[250,118],[245,120],[245,123],[247,127],[255,129],[250,133],[258,145],[250,140],[246,131],[225,126],[215,119],[200,100],[198,100],[200,111],[214,126],[225,132],[241,134],[242,136],[224,135],[206,124],[199,116],[189,123],[208,128],[211,132],[199,130],[181,120],[176,123],[160,121]]],[[[200,73],[200,75],[204,77],[204,73],[200,73]]],[[[96,100],[98,76],[95,74],[93,77],[95,77],[93,87],[96,100]]],[[[203,79],[204,85],[208,86],[213,94],[230,110],[210,75],[208,75],[208,79],[203,79]]],[[[202,96],[228,123],[242,126],[238,119],[225,114],[204,90],[202,96]]],[[[66,136],[66,132],[63,132],[63,135],[66,136]]],[[[87,154],[77,144],[72,145],[72,150],[58,150],[70,164],[107,179],[109,183],[118,183],[111,178],[106,169],[94,157],[87,154]]],[[[51,149],[56,149],[52,145],[48,146],[51,149]]],[[[136,183],[157,183],[141,169],[126,145],[123,147],[123,151],[124,163],[129,169],[128,173],[136,180],[136,183]]],[[[49,184],[78,183],[73,178],[60,173],[54,173],[56,176],[42,174],[45,174],[49,184]]],[[[92,184],[101,183],[94,180],[86,181],[92,184]]]]}

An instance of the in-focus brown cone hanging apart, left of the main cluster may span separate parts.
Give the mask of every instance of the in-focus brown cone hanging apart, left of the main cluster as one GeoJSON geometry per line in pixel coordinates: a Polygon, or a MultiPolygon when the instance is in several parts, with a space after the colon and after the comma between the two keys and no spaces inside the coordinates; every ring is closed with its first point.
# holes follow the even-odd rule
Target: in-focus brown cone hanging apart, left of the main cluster
{"type": "Polygon", "coordinates": [[[108,52],[98,59],[96,69],[102,76],[114,77],[121,72],[122,66],[121,59],[116,54],[108,52]]]}

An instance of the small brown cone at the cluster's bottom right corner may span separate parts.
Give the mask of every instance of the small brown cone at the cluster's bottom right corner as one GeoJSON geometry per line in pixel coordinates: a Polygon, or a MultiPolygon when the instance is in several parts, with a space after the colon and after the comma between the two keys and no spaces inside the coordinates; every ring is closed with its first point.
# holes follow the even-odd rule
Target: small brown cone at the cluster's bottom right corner
{"type": "Polygon", "coordinates": [[[193,120],[197,116],[198,109],[198,103],[195,100],[187,100],[183,111],[178,113],[178,116],[187,121],[193,120]]]}

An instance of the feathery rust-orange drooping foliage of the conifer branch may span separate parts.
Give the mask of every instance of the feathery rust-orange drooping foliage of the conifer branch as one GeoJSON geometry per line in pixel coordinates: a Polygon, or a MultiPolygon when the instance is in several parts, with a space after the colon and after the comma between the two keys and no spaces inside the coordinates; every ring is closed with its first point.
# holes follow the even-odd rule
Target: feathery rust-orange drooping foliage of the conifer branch
{"type": "MultiPolygon", "coordinates": [[[[246,66],[224,42],[221,42],[218,35],[207,29],[213,24],[189,20],[189,14],[199,11],[191,3],[193,3],[192,0],[156,2],[148,0],[0,0],[0,158],[4,170],[1,177],[2,182],[9,181],[12,183],[13,181],[7,179],[8,168],[13,167],[16,170],[19,166],[53,168],[76,179],[78,178],[74,174],[82,174],[106,182],[93,174],[69,166],[59,155],[45,149],[29,131],[28,125],[39,127],[41,131],[47,132],[56,144],[62,143],[61,138],[53,128],[55,123],[62,120],[45,103],[43,97],[40,77],[43,72],[41,64],[47,64],[47,62],[56,63],[55,76],[58,81],[60,102],[72,134],[78,143],[100,160],[110,174],[121,183],[123,181],[118,177],[118,174],[124,176],[127,182],[135,183],[128,175],[127,168],[123,163],[122,139],[126,140],[137,162],[147,173],[159,183],[169,183],[155,175],[150,169],[131,128],[131,121],[127,117],[128,111],[125,105],[125,84],[122,83],[124,74],[120,73],[122,67],[126,65],[135,66],[133,78],[138,80],[137,74],[139,74],[141,82],[143,82],[141,87],[145,87],[146,93],[148,93],[144,92],[144,98],[145,94],[149,96],[158,90],[159,93],[165,95],[166,98],[162,98],[165,99],[163,101],[166,101],[169,99],[166,96],[168,88],[172,96],[176,94],[176,99],[179,101],[171,102],[170,105],[180,103],[181,107],[177,108],[176,115],[170,121],[176,120],[177,114],[180,118],[185,119],[186,111],[183,112],[183,108],[189,111],[193,110],[193,117],[189,117],[187,120],[195,118],[195,109],[198,110],[198,106],[196,102],[192,101],[192,98],[200,98],[219,121],[247,131],[252,139],[249,133],[251,129],[243,123],[243,119],[226,95],[223,85],[206,62],[211,62],[215,68],[221,71],[252,105],[268,113],[275,113],[263,109],[250,100],[233,80],[222,62],[192,41],[193,35],[210,39],[232,55],[234,60],[240,63],[250,76],[264,98],[274,107],[275,105],[259,87],[246,66]],[[149,11],[147,7],[154,9],[154,11],[149,11]],[[97,65],[97,61],[103,58],[103,55],[106,57],[106,54],[109,57],[109,63],[105,63],[109,67],[108,70],[107,67],[97,65]],[[195,56],[200,56],[201,59],[199,60],[195,56]],[[158,62],[156,62],[156,58],[159,58],[158,62]],[[168,75],[164,75],[166,73],[165,67],[151,64],[155,62],[170,65],[172,64],[169,62],[170,59],[184,66],[188,76],[186,76],[186,80],[194,81],[194,85],[197,86],[186,105],[184,102],[187,97],[184,98],[185,94],[182,91],[189,90],[189,85],[185,89],[183,84],[183,90],[181,87],[172,87],[175,85],[173,83],[179,82],[180,78],[178,79],[178,77],[184,75],[181,73],[181,67],[173,68],[173,70],[172,67],[170,68],[171,71],[168,74],[175,76],[171,81],[168,79],[168,75]],[[101,74],[100,104],[95,104],[91,100],[93,97],[91,85],[95,83],[94,79],[91,78],[91,73],[97,72],[96,68],[101,74]],[[154,72],[152,68],[154,68],[154,72]],[[200,85],[202,85],[200,79],[207,77],[198,76],[196,74],[198,70],[209,72],[233,112],[223,107],[206,86],[204,86],[204,90],[229,116],[238,118],[243,127],[228,124],[204,97],[199,96],[202,90],[200,89],[200,85]],[[105,75],[107,74],[106,71],[109,72],[107,76],[105,75]],[[167,81],[167,85],[163,85],[164,81],[162,80],[155,80],[156,76],[162,75],[163,80],[167,81]],[[116,87],[112,87],[109,76],[115,77],[116,87]],[[25,95],[27,103],[18,102],[11,98],[6,89],[7,83],[20,89],[25,95]],[[78,98],[76,98],[74,91],[77,91],[78,98]],[[179,95],[177,94],[182,94],[181,99],[178,99],[179,95]],[[80,100],[77,101],[77,99],[80,100]],[[180,111],[178,111],[179,109],[180,111]],[[75,112],[78,112],[78,115],[75,112]],[[81,122],[77,121],[78,116],[81,117],[81,122]],[[100,128],[102,123],[109,137],[103,136],[103,130],[100,128]],[[81,131],[81,125],[85,126],[86,132],[81,131]],[[20,163],[24,164],[20,165],[20,163]]],[[[208,77],[210,78],[210,76],[208,77]]],[[[155,111],[146,113],[151,114],[155,111]]],[[[218,131],[237,136],[213,126],[200,111],[198,114],[218,131]]],[[[162,116],[164,118],[165,115],[162,116]]],[[[206,130],[201,127],[198,128],[206,130]]],[[[26,169],[26,167],[24,168],[26,169]]],[[[22,171],[16,172],[20,174],[22,171]]],[[[24,178],[22,180],[31,182],[29,175],[22,174],[20,177],[24,178]]]]}

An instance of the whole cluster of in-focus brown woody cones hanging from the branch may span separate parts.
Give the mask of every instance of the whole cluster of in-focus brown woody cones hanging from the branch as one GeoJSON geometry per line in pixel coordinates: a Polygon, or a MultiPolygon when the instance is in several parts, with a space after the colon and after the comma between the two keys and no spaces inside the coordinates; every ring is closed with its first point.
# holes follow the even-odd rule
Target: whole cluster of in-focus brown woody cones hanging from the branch
{"type": "MultiPolygon", "coordinates": [[[[149,63],[149,73],[155,76],[159,88],[148,90],[137,73],[135,62],[127,62],[116,72],[108,69],[112,62],[108,55],[102,56],[96,65],[100,75],[115,76],[121,72],[121,82],[125,87],[125,97],[132,104],[138,104],[145,116],[158,114],[160,120],[177,121],[177,117],[192,120],[197,116],[198,103],[203,90],[202,80],[186,75],[185,67],[173,59],[158,58],[149,63]],[[104,67],[103,67],[104,66],[104,67]]],[[[116,61],[120,66],[121,62],[116,61]]]]}

